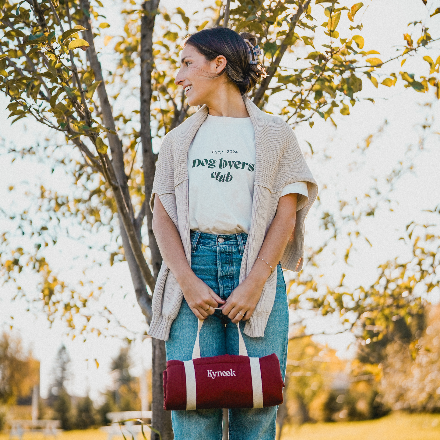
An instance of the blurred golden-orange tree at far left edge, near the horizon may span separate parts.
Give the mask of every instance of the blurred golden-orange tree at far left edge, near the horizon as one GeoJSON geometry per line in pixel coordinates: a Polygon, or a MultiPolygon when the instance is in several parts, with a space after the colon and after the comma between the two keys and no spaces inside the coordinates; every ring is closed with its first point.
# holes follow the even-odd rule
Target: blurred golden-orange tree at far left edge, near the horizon
{"type": "Polygon", "coordinates": [[[21,339],[4,332],[0,337],[0,403],[11,405],[32,393],[40,378],[40,363],[25,353],[21,339]]]}

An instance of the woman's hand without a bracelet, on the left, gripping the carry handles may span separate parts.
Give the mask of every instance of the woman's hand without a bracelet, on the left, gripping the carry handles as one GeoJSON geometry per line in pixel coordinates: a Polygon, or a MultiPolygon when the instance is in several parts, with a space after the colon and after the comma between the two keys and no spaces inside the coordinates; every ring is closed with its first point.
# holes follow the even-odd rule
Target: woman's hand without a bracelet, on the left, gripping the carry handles
{"type": "Polygon", "coordinates": [[[225,303],[194,272],[193,276],[187,277],[184,282],[179,284],[182,288],[183,297],[198,319],[206,319],[209,315],[213,315],[215,308],[219,304],[225,303]]]}

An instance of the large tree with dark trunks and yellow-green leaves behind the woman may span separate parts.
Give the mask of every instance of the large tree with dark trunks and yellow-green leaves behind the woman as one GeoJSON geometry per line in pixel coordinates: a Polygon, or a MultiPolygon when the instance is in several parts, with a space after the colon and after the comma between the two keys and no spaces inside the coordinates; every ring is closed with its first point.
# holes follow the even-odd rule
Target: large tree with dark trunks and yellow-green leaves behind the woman
{"type": "MultiPolygon", "coordinates": [[[[99,14],[102,3],[96,3],[0,0],[0,89],[11,99],[8,109],[15,117],[13,122],[33,117],[65,136],[66,141],[60,138],[55,142],[55,148],[62,145],[62,154],[46,160],[52,160],[54,167],[66,167],[81,190],[72,196],[41,188],[36,214],[42,221],[35,222],[27,212],[18,217],[18,228],[26,231],[35,249],[14,247],[11,237],[4,234],[2,270],[10,281],[18,278],[23,267],[36,271],[41,276],[41,298],[37,301],[49,319],[60,317],[72,329],[74,316],[81,315],[81,328],[90,330],[89,297],[58,279],[44,257],[44,248],[55,245],[61,233],[58,222],[65,219],[77,221],[84,231],[112,235],[110,262],[115,258],[127,261],[139,306],[150,322],[151,293],[161,265],[148,209],[156,160],[152,139],[160,139],[188,116],[185,97],[173,83],[179,42],[188,32],[220,23],[237,31],[255,32],[264,49],[268,77],[249,97],[264,109],[272,95],[283,92],[287,99],[280,114],[292,126],[304,122],[312,126],[315,115],[335,124],[334,109],[348,115],[348,104],[356,104],[363,79],[379,86],[378,72],[384,73],[383,86],[391,87],[400,78],[408,88],[417,92],[433,89],[440,96],[435,75],[440,57],[436,61],[429,55],[424,57],[429,75],[418,81],[407,72],[386,74],[383,66],[390,60],[382,62],[369,57],[377,51],[363,51],[362,24],[357,22],[362,3],[336,7],[337,1],[325,0],[242,0],[231,9],[229,0],[226,4],[219,0],[195,14],[190,23],[181,8],[174,13],[159,10],[159,0],[145,1],[142,7],[121,0],[125,34],[115,45],[119,58],[112,73],[103,71],[95,48],[95,38],[111,26],[99,14]],[[357,24],[343,30],[339,26],[343,37],[337,40],[336,29],[345,13],[349,22],[355,25],[356,18],[357,24]],[[157,26],[156,17],[160,17],[157,26]],[[317,26],[315,22],[322,18],[326,21],[317,26]],[[322,50],[314,46],[316,33],[326,36],[322,50]],[[300,57],[301,67],[284,66],[297,54],[300,44],[310,49],[300,57]],[[140,88],[130,82],[138,73],[140,88]],[[121,106],[127,89],[140,96],[138,109],[132,112],[121,106]],[[138,125],[131,124],[132,120],[138,125]],[[139,143],[142,154],[137,154],[139,143]]],[[[402,59],[402,65],[404,59],[428,49],[433,42],[427,22],[414,21],[413,26],[414,35],[405,34],[406,44],[395,57],[402,59]]],[[[106,38],[111,39],[109,35],[106,38]]],[[[15,153],[44,156],[52,148],[33,147],[15,153]]],[[[154,339],[152,424],[163,439],[169,439],[170,417],[162,408],[164,369],[165,345],[154,339]]]]}

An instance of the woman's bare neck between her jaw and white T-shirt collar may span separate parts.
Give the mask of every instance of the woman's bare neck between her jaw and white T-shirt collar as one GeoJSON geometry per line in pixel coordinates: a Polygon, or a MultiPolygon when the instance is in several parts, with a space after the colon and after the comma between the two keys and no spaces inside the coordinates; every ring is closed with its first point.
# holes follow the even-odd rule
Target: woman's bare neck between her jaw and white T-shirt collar
{"type": "Polygon", "coordinates": [[[249,117],[242,95],[236,87],[221,84],[210,98],[206,105],[211,116],[249,117]]]}

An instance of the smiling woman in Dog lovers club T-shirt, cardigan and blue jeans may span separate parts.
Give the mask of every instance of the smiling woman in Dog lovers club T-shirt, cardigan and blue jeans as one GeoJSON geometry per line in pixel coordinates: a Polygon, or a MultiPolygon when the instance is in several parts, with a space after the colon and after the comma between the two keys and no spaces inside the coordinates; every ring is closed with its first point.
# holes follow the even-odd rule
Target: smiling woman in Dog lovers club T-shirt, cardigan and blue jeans
{"type": "MultiPolygon", "coordinates": [[[[168,360],[186,361],[205,319],[201,356],[238,355],[239,322],[249,356],[275,353],[284,378],[281,265],[302,268],[317,186],[289,125],[245,97],[265,76],[259,53],[255,36],[224,28],[184,44],[175,82],[202,108],[159,153],[150,206],[163,264],[149,334],[166,341],[168,360]]],[[[276,410],[229,410],[229,438],[275,439],[276,410]]],[[[173,411],[172,424],[176,440],[220,439],[222,411],[173,411]]]]}

